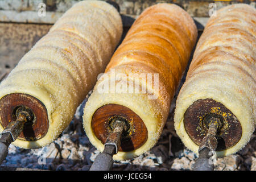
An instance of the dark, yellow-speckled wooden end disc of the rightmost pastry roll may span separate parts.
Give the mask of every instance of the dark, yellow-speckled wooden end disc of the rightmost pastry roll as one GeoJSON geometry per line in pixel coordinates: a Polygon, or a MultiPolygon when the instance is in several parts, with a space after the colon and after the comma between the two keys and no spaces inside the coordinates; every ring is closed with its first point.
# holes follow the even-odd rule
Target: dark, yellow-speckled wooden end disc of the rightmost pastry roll
{"type": "Polygon", "coordinates": [[[218,145],[216,151],[233,147],[242,137],[242,126],[236,115],[220,102],[211,98],[197,100],[184,113],[184,126],[187,134],[198,146],[207,134],[209,117],[218,118],[220,127],[216,138],[218,145]]]}

